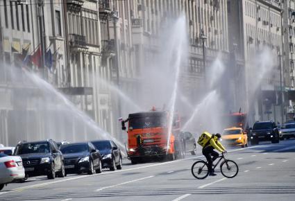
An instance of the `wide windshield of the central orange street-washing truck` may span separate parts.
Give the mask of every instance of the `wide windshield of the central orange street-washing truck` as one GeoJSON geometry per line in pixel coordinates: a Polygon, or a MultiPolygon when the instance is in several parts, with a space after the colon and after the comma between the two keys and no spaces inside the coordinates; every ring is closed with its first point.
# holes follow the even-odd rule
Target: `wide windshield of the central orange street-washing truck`
{"type": "Polygon", "coordinates": [[[141,116],[129,119],[129,126],[133,129],[165,127],[166,119],[165,116],[141,116]]]}

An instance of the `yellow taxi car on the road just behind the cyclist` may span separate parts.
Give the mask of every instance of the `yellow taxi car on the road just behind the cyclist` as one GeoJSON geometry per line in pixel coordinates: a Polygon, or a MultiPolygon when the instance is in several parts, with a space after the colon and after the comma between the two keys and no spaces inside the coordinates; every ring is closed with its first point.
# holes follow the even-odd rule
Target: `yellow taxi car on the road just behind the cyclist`
{"type": "Polygon", "coordinates": [[[226,128],[221,134],[221,143],[228,146],[248,146],[248,137],[242,128],[226,128]]]}

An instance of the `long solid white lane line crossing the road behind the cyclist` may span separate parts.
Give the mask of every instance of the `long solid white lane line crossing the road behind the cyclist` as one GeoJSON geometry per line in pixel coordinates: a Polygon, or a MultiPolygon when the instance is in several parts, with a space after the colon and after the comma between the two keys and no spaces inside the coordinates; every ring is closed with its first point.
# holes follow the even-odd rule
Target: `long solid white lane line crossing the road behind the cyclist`
{"type": "MultiPolygon", "coordinates": [[[[228,152],[238,152],[238,151],[251,149],[251,148],[257,148],[257,147],[262,148],[262,147],[267,147],[267,146],[250,146],[250,147],[247,147],[247,148],[238,148],[236,150],[228,150],[228,152]]],[[[154,167],[154,166],[163,166],[163,165],[166,165],[166,164],[171,164],[171,163],[176,163],[176,162],[181,162],[181,161],[187,161],[187,160],[201,158],[201,157],[204,157],[204,156],[201,155],[201,156],[197,156],[197,157],[189,157],[187,159],[178,159],[178,160],[175,160],[175,161],[167,161],[167,162],[163,162],[161,164],[152,164],[152,165],[148,165],[148,166],[140,166],[140,167],[137,167],[137,168],[129,168],[129,169],[124,169],[124,170],[115,171],[115,172],[100,173],[99,175],[115,174],[115,173],[133,171],[133,170],[138,170],[138,169],[143,169],[143,168],[150,168],[150,167],[154,167]]],[[[189,170],[190,170],[190,168],[189,168],[189,170]]],[[[19,191],[19,190],[24,190],[24,189],[33,189],[33,188],[39,187],[39,186],[47,186],[49,184],[56,184],[56,183],[60,183],[60,182],[67,182],[67,181],[70,181],[70,180],[79,180],[79,179],[83,179],[85,177],[95,177],[95,176],[97,176],[97,175],[83,175],[83,176],[71,177],[69,179],[58,180],[58,181],[55,181],[55,182],[45,182],[45,183],[42,183],[42,184],[33,184],[31,186],[25,186],[25,187],[21,187],[21,188],[17,188],[17,189],[12,189],[10,191],[0,192],[0,195],[6,194],[6,193],[12,193],[12,192],[19,191]]]]}

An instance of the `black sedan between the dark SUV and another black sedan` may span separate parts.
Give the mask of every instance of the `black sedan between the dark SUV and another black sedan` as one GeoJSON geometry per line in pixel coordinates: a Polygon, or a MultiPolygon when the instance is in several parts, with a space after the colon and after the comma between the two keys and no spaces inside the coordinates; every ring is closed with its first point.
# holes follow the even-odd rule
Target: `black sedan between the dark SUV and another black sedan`
{"type": "Polygon", "coordinates": [[[91,142],[68,143],[60,146],[66,173],[101,173],[101,155],[91,142]]]}

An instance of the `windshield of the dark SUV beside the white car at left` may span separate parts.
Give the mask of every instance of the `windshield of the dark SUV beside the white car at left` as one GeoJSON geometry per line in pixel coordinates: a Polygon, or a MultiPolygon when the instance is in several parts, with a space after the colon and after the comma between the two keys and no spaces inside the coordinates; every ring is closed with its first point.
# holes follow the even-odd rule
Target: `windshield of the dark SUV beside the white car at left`
{"type": "Polygon", "coordinates": [[[15,155],[25,155],[32,153],[49,153],[49,146],[47,141],[35,142],[35,143],[24,143],[17,148],[15,155]]]}

